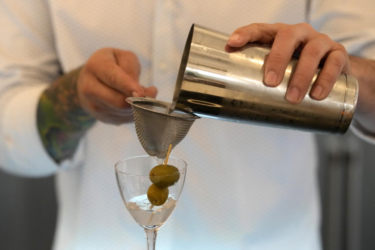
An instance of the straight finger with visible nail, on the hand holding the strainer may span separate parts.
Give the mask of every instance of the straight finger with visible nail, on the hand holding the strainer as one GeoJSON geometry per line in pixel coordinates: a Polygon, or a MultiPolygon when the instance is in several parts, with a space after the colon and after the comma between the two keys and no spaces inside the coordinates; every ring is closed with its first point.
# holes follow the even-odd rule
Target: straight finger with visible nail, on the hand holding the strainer
{"type": "Polygon", "coordinates": [[[126,96],[143,96],[138,81],[130,77],[120,66],[110,59],[88,62],[88,69],[104,84],[117,89],[126,96]]]}

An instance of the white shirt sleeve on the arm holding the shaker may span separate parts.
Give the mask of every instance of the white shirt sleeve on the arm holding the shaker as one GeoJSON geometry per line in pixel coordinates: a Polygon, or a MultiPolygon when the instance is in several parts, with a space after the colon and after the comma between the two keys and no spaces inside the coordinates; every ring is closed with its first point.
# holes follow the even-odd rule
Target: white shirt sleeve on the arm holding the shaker
{"type": "MultiPolygon", "coordinates": [[[[344,45],[348,54],[375,60],[374,0],[312,0],[308,19],[319,32],[344,45]]],[[[375,98],[375,96],[374,96],[375,98]]],[[[354,120],[351,130],[375,144],[375,134],[354,120]]]]}

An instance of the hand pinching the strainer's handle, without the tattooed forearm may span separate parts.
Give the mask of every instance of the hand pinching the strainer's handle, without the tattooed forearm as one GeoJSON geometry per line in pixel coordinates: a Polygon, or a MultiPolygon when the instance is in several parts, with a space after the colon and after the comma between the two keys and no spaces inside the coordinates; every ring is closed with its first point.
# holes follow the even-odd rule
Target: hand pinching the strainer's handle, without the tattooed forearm
{"type": "Polygon", "coordinates": [[[130,51],[102,48],[95,51],[80,71],[77,81],[81,107],[103,122],[129,121],[130,105],[126,98],[155,97],[156,87],[145,88],[138,82],[140,65],[130,51]]]}

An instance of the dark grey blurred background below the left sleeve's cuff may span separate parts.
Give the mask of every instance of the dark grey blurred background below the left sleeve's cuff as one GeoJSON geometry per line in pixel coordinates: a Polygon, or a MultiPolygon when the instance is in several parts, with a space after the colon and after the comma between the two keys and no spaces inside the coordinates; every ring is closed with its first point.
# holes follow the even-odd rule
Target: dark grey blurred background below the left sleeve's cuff
{"type": "Polygon", "coordinates": [[[54,178],[0,171],[0,249],[50,250],[55,231],[54,178]]]}

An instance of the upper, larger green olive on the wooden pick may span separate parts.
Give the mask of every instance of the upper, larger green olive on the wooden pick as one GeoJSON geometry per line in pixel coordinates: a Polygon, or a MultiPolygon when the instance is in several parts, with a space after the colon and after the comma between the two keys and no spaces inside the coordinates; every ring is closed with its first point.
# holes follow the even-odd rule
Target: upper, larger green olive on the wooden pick
{"type": "Polygon", "coordinates": [[[150,180],[158,187],[170,187],[180,179],[180,172],[172,165],[157,165],[150,171],[150,180]]]}

